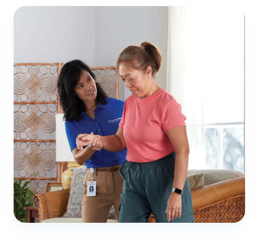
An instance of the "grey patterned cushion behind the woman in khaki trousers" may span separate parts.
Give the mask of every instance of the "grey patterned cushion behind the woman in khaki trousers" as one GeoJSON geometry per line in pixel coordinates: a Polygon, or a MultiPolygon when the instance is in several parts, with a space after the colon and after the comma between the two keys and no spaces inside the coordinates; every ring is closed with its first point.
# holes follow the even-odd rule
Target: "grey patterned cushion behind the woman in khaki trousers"
{"type": "MultiPolygon", "coordinates": [[[[67,212],[64,213],[62,218],[82,218],[82,207],[81,201],[83,196],[83,182],[84,176],[86,174],[86,166],[80,166],[71,168],[73,172],[70,193],[69,193],[69,203],[67,205],[67,212]]],[[[114,206],[112,205],[108,219],[116,220],[114,206]]]]}

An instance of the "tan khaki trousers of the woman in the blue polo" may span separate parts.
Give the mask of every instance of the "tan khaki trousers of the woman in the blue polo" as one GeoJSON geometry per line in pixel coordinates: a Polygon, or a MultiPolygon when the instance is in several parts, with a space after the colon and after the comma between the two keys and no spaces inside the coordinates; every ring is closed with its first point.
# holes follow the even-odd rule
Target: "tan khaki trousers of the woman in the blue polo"
{"type": "MultiPolygon", "coordinates": [[[[121,165],[104,168],[119,167],[121,165]]],[[[82,222],[84,223],[105,223],[112,205],[114,205],[116,220],[119,217],[120,194],[123,188],[124,179],[118,171],[97,171],[93,173],[93,181],[96,181],[96,196],[86,196],[87,182],[91,181],[90,168],[84,177],[84,192],[82,197],[82,222]]]]}

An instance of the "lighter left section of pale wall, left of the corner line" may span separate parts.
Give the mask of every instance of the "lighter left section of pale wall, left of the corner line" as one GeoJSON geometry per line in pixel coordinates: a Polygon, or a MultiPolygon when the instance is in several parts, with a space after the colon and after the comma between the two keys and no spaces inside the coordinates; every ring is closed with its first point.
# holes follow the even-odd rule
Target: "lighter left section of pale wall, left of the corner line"
{"type": "Polygon", "coordinates": [[[13,62],[96,65],[96,6],[22,6],[14,13],[13,62]]]}

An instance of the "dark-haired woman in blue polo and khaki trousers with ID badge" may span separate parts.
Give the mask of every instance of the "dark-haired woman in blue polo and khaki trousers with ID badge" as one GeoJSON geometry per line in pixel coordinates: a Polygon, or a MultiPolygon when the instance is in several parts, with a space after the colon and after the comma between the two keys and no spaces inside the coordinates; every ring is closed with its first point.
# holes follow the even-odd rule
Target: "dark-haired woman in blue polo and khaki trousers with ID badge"
{"type": "Polygon", "coordinates": [[[101,149],[101,138],[81,150],[77,149],[78,134],[116,134],[122,117],[124,102],[109,98],[101,85],[95,83],[95,78],[93,71],[81,60],[67,62],[58,77],[60,105],[64,111],[69,146],[77,164],[85,163],[87,167],[81,203],[82,221],[86,223],[107,222],[112,205],[118,220],[123,188],[123,178],[118,168],[125,161],[127,152],[126,149],[118,152],[101,149]],[[96,182],[96,186],[94,183],[94,191],[89,193],[87,183],[92,181],[96,182]]]}

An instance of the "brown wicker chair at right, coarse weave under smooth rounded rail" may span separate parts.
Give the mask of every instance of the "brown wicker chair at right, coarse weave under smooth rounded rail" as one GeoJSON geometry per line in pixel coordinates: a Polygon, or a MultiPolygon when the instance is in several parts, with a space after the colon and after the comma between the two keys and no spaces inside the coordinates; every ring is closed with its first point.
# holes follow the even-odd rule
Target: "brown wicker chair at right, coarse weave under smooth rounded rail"
{"type": "MultiPolygon", "coordinates": [[[[245,177],[191,190],[195,223],[233,223],[245,215],[245,177]]],[[[148,222],[154,223],[151,214],[148,222]]]]}

